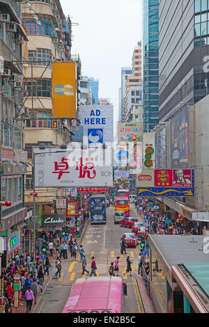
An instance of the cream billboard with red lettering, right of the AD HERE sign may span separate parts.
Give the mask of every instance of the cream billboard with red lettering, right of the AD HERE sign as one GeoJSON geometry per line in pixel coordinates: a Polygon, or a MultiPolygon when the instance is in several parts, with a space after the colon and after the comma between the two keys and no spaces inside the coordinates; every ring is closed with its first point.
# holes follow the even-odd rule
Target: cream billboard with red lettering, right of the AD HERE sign
{"type": "Polygon", "coordinates": [[[118,122],[118,143],[141,142],[143,127],[142,122],[118,122]]]}

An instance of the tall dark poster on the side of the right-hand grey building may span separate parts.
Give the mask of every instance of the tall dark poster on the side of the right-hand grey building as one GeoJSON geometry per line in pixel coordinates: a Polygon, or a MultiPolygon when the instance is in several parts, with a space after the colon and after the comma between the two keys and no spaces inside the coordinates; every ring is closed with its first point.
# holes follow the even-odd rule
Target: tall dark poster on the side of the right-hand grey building
{"type": "Polygon", "coordinates": [[[180,111],[171,120],[171,167],[189,167],[189,111],[180,111]]]}

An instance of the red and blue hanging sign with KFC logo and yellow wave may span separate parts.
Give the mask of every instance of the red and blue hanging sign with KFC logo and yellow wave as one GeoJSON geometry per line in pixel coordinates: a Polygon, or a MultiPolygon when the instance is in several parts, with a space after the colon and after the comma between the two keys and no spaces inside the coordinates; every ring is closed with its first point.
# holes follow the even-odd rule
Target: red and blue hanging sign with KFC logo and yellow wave
{"type": "Polygon", "coordinates": [[[194,196],[194,170],[142,170],[137,186],[137,196],[194,196]]]}

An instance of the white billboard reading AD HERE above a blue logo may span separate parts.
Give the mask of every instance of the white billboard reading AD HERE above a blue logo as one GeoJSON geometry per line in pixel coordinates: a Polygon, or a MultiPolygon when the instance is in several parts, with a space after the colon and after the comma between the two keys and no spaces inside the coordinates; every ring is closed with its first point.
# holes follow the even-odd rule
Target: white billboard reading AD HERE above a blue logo
{"type": "Polygon", "coordinates": [[[114,142],[114,106],[79,106],[78,119],[88,146],[114,142]]]}

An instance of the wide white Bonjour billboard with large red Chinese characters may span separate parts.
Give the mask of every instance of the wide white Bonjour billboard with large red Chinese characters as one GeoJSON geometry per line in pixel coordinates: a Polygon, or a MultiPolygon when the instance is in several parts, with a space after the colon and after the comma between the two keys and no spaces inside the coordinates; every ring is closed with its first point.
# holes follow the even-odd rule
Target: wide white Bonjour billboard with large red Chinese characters
{"type": "Polygon", "coordinates": [[[100,166],[96,155],[80,149],[66,151],[56,148],[34,149],[34,153],[36,187],[113,186],[113,167],[100,166]]]}

